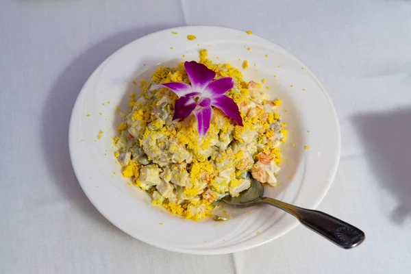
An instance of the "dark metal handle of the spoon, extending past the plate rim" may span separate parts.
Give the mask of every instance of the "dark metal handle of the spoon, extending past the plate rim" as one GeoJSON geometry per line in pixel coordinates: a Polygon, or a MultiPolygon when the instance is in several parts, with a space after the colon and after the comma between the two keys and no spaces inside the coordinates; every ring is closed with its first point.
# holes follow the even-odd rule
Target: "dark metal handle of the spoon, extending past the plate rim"
{"type": "Polygon", "coordinates": [[[268,197],[262,198],[259,202],[268,203],[271,206],[275,206],[276,208],[292,214],[300,221],[300,223],[327,238],[331,242],[334,242],[338,247],[351,249],[360,245],[365,239],[364,232],[357,227],[345,223],[340,219],[336,219],[324,212],[299,208],[298,206],[284,203],[284,201],[278,201],[268,197]]]}

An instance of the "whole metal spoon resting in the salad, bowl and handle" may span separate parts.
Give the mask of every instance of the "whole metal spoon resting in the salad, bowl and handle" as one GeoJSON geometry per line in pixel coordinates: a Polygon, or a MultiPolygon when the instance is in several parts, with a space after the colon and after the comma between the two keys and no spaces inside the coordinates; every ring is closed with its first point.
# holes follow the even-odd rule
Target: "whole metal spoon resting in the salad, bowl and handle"
{"type": "Polygon", "coordinates": [[[344,249],[356,247],[365,240],[365,234],[360,229],[324,212],[307,210],[305,208],[299,208],[298,206],[292,206],[289,203],[284,203],[284,201],[263,197],[264,187],[262,184],[256,179],[253,179],[253,177],[249,177],[251,178],[251,186],[249,189],[241,192],[238,197],[227,196],[222,201],[231,206],[238,207],[253,206],[257,203],[268,203],[295,216],[300,223],[344,249]]]}

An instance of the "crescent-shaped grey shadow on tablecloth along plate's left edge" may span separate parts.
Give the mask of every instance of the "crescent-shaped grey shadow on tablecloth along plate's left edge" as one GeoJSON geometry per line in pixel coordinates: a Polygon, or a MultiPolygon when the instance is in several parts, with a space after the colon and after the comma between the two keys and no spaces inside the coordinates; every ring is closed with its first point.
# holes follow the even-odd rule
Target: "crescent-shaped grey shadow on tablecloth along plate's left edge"
{"type": "Polygon", "coordinates": [[[108,229],[114,227],[88,201],[75,177],[69,155],[69,122],[71,110],[82,86],[97,66],[105,58],[123,47],[128,42],[173,26],[151,26],[142,29],[131,29],[116,34],[91,47],[60,74],[53,84],[42,110],[42,151],[47,161],[47,168],[53,175],[62,197],[77,207],[78,212],[95,219],[108,229]]]}

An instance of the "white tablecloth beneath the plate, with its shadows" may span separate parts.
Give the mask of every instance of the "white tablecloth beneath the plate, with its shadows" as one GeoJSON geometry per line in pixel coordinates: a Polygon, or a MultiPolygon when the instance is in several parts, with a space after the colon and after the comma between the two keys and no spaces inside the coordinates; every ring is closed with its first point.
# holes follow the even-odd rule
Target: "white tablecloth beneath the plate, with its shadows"
{"type": "Polygon", "coordinates": [[[0,273],[408,273],[411,1],[0,3],[0,273]],[[71,167],[71,108],[90,73],[140,36],[180,25],[251,29],[305,62],[342,132],[319,210],[366,232],[338,249],[301,225],[225,256],[150,247],[106,221],[71,167]]]}

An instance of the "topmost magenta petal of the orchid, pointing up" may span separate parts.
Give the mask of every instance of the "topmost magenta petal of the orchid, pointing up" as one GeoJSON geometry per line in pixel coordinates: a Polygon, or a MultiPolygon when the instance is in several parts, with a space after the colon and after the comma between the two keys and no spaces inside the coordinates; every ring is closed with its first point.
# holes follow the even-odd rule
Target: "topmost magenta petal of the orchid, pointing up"
{"type": "Polygon", "coordinates": [[[190,83],[193,92],[203,92],[204,88],[214,79],[216,73],[207,66],[199,64],[195,61],[185,62],[184,68],[190,78],[190,83]]]}

